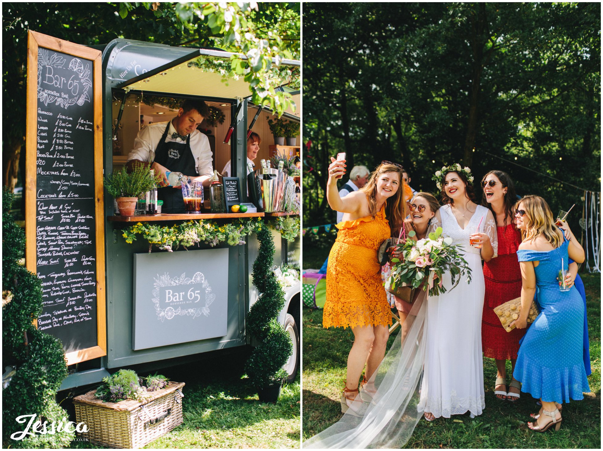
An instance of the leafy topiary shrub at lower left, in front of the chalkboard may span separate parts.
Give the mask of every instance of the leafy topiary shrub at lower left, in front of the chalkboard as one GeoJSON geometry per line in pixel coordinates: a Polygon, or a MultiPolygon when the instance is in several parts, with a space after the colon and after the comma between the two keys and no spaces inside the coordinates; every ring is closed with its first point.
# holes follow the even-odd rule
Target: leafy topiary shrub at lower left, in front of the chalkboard
{"type": "Polygon", "coordinates": [[[21,441],[10,439],[14,432],[23,431],[23,423],[15,421],[20,415],[36,414],[48,423],[57,424],[69,416],[55,402],[57,390],[67,376],[62,343],[31,325],[31,320],[42,311],[42,284],[36,275],[19,266],[25,236],[10,214],[12,202],[13,194],[5,189],[2,196],[2,363],[13,367],[14,373],[2,392],[2,440],[4,447],[66,446],[75,438],[74,433],[62,431],[51,436],[35,434],[21,441]]]}

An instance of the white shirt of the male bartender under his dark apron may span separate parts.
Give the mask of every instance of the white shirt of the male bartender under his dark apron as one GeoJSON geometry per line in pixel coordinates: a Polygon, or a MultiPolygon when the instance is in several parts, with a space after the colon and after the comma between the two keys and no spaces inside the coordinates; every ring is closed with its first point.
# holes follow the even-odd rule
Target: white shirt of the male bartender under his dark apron
{"type": "MultiPolygon", "coordinates": [[[[159,144],[163,132],[165,132],[165,126],[167,122],[156,122],[147,125],[145,128],[140,130],[134,140],[134,148],[128,154],[128,161],[139,160],[145,163],[153,163],[155,160],[155,149],[159,144]]],[[[181,138],[172,139],[172,133],[175,133],[176,129],[174,124],[169,122],[168,135],[165,138],[165,142],[177,142],[186,143],[186,139],[181,138]]],[[[213,158],[212,148],[209,146],[209,139],[204,133],[198,130],[191,132],[191,152],[195,160],[195,166],[197,167],[198,175],[212,176],[213,174],[213,158]]],[[[168,170],[170,168],[168,167],[168,170]]],[[[193,174],[185,174],[191,176],[193,174]]]]}

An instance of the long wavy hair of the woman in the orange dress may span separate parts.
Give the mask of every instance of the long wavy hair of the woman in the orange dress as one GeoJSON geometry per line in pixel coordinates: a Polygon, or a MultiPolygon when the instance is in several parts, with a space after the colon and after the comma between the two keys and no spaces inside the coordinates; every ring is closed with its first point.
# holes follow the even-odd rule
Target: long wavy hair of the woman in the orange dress
{"type": "Polygon", "coordinates": [[[381,163],[375,168],[374,172],[371,173],[367,184],[359,190],[366,194],[368,211],[371,216],[374,217],[377,214],[377,178],[386,172],[397,173],[400,180],[398,190],[396,191],[396,194],[391,196],[391,198],[388,198],[385,202],[385,217],[390,223],[390,229],[392,230],[402,227],[404,218],[408,216],[408,207],[406,206],[406,202],[404,200],[404,181],[402,179],[403,171],[404,169],[402,169],[402,167],[396,166],[395,164],[381,163]]]}

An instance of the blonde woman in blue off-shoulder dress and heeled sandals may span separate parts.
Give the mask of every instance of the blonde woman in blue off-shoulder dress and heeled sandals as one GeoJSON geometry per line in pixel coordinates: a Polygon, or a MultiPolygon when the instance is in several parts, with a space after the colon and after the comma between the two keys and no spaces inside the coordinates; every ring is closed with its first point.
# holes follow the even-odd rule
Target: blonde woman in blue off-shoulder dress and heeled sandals
{"type": "Polygon", "coordinates": [[[522,272],[522,306],[511,325],[525,329],[538,287],[540,314],[523,337],[513,372],[522,391],[540,398],[542,408],[528,422],[533,431],[561,426],[558,403],[584,399],[590,392],[582,361],[584,304],[575,287],[561,291],[558,274],[567,271],[568,257],[582,263],[584,249],[564,224],[569,238],[555,226],[545,199],[524,196],[516,204],[517,228],[523,241],[517,250],[522,272]]]}

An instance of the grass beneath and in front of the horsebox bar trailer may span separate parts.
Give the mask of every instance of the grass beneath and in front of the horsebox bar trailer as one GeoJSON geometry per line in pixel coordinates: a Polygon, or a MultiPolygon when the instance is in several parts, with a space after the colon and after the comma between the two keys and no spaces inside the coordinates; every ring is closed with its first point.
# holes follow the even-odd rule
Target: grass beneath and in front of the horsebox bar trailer
{"type": "MultiPolygon", "coordinates": [[[[299,448],[300,376],[283,387],[276,404],[260,403],[242,376],[247,355],[237,352],[159,370],[186,383],[184,422],[145,448],[299,448]]],[[[74,441],[72,447],[96,446],[74,441]]]]}

